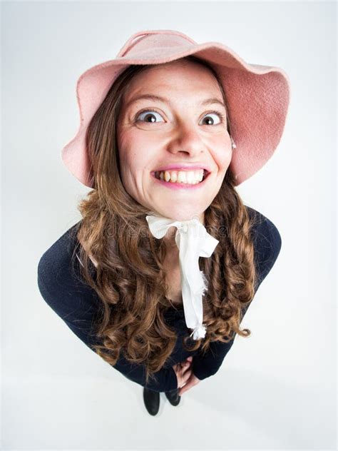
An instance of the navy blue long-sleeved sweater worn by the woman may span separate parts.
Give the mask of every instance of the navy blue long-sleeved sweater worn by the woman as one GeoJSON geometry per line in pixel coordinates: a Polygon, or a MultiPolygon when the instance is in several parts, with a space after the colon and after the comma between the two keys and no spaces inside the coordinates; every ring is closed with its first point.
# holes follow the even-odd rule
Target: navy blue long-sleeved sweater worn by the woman
{"type": "MultiPolygon", "coordinates": [[[[247,207],[247,211],[256,219],[255,226],[252,228],[252,238],[255,248],[257,270],[255,292],[257,292],[280,253],[282,240],[275,225],[262,213],[250,207],[247,207]]],[[[73,255],[73,253],[76,254],[74,250],[79,245],[76,238],[78,224],[76,223],[63,233],[41,256],[38,265],[38,285],[46,303],[68,325],[68,328],[91,348],[91,345],[103,344],[92,330],[93,321],[101,311],[102,303],[95,290],[81,279],[81,263],[76,255],[73,255]]],[[[183,348],[183,338],[190,335],[191,331],[185,325],[183,305],[178,308],[170,307],[165,313],[165,321],[175,328],[178,340],[170,358],[163,368],[155,373],[155,381],[150,379],[146,385],[144,365],[129,363],[122,355],[113,368],[133,382],[158,392],[168,392],[178,387],[178,380],[172,366],[182,362],[189,355],[193,355],[192,369],[198,379],[203,380],[215,375],[235,338],[229,343],[212,342],[206,355],[202,355],[199,350],[188,353],[183,348]]]]}

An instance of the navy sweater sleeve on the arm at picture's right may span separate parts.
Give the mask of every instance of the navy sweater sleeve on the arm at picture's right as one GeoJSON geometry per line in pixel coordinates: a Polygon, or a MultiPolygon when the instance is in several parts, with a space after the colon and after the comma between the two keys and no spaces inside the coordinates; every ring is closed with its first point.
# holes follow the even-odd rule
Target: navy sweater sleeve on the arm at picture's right
{"type": "MultiPolygon", "coordinates": [[[[252,227],[252,239],[255,252],[255,269],[257,272],[255,293],[257,293],[260,284],[266,278],[267,274],[270,273],[272,266],[277,260],[282,246],[282,239],[276,226],[268,218],[263,216],[262,213],[250,207],[247,207],[247,210],[250,216],[253,215],[255,217],[255,223],[252,227]]],[[[242,309],[243,317],[250,304],[242,309]]],[[[193,373],[198,379],[203,380],[217,373],[225,355],[227,355],[232,347],[235,337],[229,343],[214,341],[210,343],[210,348],[205,355],[198,353],[193,358],[193,373]]]]}

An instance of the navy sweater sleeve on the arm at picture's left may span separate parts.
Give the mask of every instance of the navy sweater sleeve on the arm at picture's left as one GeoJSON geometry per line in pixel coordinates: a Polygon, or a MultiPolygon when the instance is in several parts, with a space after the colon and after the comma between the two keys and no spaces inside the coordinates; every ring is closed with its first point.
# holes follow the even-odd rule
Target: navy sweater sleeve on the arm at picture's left
{"type": "MultiPolygon", "coordinates": [[[[95,352],[92,345],[103,345],[93,333],[93,323],[101,310],[101,301],[93,288],[84,283],[76,258],[76,225],[58,238],[39,260],[37,283],[42,298],[73,333],[95,352]],[[72,257],[75,260],[72,260],[72,257]]],[[[106,361],[106,360],[105,360],[106,361]]],[[[156,392],[168,392],[178,387],[173,368],[162,368],[155,380],[145,383],[145,365],[129,363],[122,355],[113,368],[133,382],[156,392]]]]}

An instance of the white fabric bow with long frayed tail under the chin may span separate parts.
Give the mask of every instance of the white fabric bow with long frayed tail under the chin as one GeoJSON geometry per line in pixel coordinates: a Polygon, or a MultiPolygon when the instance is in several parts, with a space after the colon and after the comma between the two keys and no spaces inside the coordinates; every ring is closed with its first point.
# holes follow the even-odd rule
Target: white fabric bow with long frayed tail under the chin
{"type": "Polygon", "coordinates": [[[189,221],[173,221],[163,216],[145,216],[150,232],[155,238],[163,238],[168,228],[175,226],[175,243],[179,249],[180,278],[185,324],[193,329],[194,340],[204,338],[203,295],[208,289],[207,280],[198,264],[199,257],[210,257],[219,243],[197,218],[189,221]]]}

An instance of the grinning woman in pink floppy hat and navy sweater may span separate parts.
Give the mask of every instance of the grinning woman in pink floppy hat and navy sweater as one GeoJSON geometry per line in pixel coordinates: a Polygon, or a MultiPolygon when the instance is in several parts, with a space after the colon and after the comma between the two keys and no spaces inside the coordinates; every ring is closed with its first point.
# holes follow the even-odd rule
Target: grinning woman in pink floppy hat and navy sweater
{"type": "Polygon", "coordinates": [[[275,151],[289,83],[222,44],[156,30],[77,91],[81,126],[62,156],[93,189],[42,255],[39,289],[156,415],[160,392],[178,405],[250,335],[240,323],[281,238],[235,186],[275,151]]]}

